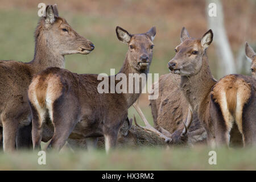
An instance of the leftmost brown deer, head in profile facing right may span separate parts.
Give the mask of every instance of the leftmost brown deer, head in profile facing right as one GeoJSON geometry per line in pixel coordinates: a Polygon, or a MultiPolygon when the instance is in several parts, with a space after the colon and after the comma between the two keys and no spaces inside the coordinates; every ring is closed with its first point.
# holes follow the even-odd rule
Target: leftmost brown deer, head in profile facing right
{"type": "MultiPolygon", "coordinates": [[[[0,125],[5,151],[15,150],[18,129],[31,123],[27,89],[32,76],[48,67],[64,68],[64,55],[88,54],[93,49],[92,42],[77,34],[59,16],[56,5],[46,7],[46,16],[40,18],[35,30],[34,59],[29,63],[0,61],[0,125]]],[[[31,133],[29,129],[24,131],[31,133]]],[[[24,137],[20,135],[18,140],[24,137]]]]}

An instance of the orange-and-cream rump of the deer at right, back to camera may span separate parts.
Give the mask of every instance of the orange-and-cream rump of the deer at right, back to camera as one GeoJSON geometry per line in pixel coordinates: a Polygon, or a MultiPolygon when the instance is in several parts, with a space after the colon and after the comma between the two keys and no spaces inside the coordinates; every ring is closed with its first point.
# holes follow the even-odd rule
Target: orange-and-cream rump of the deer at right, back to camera
{"type": "Polygon", "coordinates": [[[228,75],[213,86],[210,112],[217,144],[256,143],[256,80],[244,75],[228,75]],[[224,140],[225,139],[225,140],[224,140]]]}

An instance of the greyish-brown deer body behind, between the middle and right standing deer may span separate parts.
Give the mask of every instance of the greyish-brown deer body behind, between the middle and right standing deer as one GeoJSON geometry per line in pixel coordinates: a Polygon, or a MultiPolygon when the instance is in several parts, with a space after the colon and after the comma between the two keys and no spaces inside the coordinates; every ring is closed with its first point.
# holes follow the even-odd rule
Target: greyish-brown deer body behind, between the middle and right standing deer
{"type": "Polygon", "coordinates": [[[156,100],[150,100],[154,127],[163,133],[164,130],[168,131],[170,134],[167,136],[172,139],[172,144],[204,143],[206,133],[195,112],[193,112],[193,121],[186,135],[188,138],[181,135],[189,105],[179,84],[180,76],[168,73],[160,76],[159,81],[152,85],[153,88],[155,86],[159,88],[159,97],[156,100]]]}

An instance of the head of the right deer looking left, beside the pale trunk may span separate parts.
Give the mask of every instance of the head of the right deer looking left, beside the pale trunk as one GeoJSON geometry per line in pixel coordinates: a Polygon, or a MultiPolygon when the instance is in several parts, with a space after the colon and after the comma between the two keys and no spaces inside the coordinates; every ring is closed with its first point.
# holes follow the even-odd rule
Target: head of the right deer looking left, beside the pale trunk
{"type": "Polygon", "coordinates": [[[181,76],[196,75],[203,65],[205,49],[212,43],[213,32],[209,30],[201,39],[192,39],[183,27],[180,39],[181,44],[174,49],[176,55],[169,61],[168,67],[181,76]]]}

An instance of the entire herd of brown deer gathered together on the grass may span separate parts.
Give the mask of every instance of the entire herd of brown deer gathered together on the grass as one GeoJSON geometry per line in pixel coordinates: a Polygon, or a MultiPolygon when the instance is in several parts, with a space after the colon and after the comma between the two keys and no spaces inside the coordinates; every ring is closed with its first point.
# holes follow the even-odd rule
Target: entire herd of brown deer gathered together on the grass
{"type": "MultiPolygon", "coordinates": [[[[156,28],[130,34],[121,27],[117,38],[128,46],[119,73],[147,74],[156,28]]],[[[256,54],[245,45],[251,76],[227,75],[219,81],[210,72],[206,50],[212,30],[202,38],[182,28],[181,43],[168,62],[170,73],[152,85],[159,97],[150,100],[154,126],[136,102],[142,93],[98,93],[98,75],[64,69],[65,55],[89,54],[94,45],[46,7],[35,30],[34,59],[28,63],[0,61],[0,146],[10,152],[40,148],[41,141],[57,151],[116,146],[176,146],[207,143],[211,147],[256,145],[256,54]],[[128,118],[130,106],[146,126],[128,118]],[[133,121],[135,125],[133,125],[133,121]]],[[[112,76],[110,76],[112,77],[112,76]]],[[[115,85],[120,80],[115,80],[115,85]]],[[[140,82],[141,88],[144,84],[140,82]]],[[[135,89],[134,84],[132,85],[135,89]]]]}

